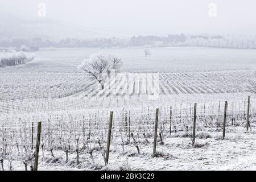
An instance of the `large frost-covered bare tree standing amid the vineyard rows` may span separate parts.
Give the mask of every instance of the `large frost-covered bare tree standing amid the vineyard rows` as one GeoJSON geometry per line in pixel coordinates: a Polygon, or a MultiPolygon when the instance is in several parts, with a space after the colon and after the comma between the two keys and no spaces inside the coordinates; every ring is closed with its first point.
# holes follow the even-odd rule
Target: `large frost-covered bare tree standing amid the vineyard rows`
{"type": "Polygon", "coordinates": [[[82,61],[78,68],[97,80],[101,84],[101,89],[104,89],[104,76],[110,76],[112,70],[119,72],[121,65],[122,61],[119,57],[106,53],[97,53],[96,55],[91,55],[88,60],[82,61]]]}

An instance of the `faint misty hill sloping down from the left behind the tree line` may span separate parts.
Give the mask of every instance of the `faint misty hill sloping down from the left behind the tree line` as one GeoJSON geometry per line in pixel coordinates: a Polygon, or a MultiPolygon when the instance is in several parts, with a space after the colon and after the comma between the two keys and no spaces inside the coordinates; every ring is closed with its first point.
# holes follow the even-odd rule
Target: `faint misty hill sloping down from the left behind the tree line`
{"type": "Polygon", "coordinates": [[[92,30],[86,27],[65,24],[49,19],[20,19],[6,10],[0,9],[0,37],[40,37],[60,39],[66,37],[97,38],[111,37],[112,33],[92,30]]]}

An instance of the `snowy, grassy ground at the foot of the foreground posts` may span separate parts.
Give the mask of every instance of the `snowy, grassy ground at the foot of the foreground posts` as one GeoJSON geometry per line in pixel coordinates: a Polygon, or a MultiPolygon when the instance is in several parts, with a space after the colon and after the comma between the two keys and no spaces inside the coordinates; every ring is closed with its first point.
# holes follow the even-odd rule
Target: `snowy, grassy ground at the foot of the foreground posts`
{"type": "MultiPolygon", "coordinates": [[[[181,137],[182,133],[166,137],[164,144],[156,147],[158,157],[152,158],[153,143],[139,144],[141,154],[133,144],[122,146],[114,141],[110,146],[109,165],[105,167],[100,152],[94,152],[94,163],[90,155],[80,152],[80,164],[76,164],[76,154],[69,154],[69,162],[65,163],[63,151],[53,151],[55,158],[51,158],[49,151],[42,153],[39,158],[39,170],[255,170],[256,168],[256,140],[255,129],[249,133],[238,127],[232,133],[227,133],[222,140],[221,132],[207,132],[210,138],[196,138],[196,147],[192,147],[190,138],[181,137]],[[239,132],[238,132],[239,131],[239,132]]],[[[209,137],[209,136],[208,136],[209,137]]],[[[7,170],[5,161],[5,169],[7,170]]],[[[13,162],[14,170],[24,170],[21,161],[13,162]]]]}

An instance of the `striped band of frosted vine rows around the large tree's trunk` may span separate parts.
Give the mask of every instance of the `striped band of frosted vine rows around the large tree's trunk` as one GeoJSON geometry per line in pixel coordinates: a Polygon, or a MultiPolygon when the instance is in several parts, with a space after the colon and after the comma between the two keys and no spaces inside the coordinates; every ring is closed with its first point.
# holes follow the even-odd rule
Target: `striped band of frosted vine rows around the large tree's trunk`
{"type": "Polygon", "coordinates": [[[84,73],[17,73],[11,71],[0,73],[0,82],[2,84],[0,86],[0,101],[52,99],[74,94],[77,97],[96,96],[97,98],[106,98],[106,100],[112,96],[143,97],[143,95],[150,95],[155,92],[163,96],[236,94],[249,92],[246,80],[253,77],[254,72],[250,69],[177,73],[118,73],[111,81],[106,80],[105,88],[101,90],[97,88],[96,81],[88,80],[84,73]],[[151,82],[147,82],[149,80],[148,77],[152,77],[151,80],[154,78],[158,80],[158,86],[156,87],[151,82]]]}

